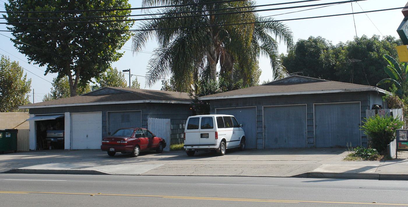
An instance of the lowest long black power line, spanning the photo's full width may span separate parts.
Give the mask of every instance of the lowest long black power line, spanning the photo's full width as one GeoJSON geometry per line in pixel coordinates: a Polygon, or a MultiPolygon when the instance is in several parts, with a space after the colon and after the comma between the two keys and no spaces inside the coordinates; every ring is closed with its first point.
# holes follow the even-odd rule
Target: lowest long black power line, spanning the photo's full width
{"type": "Polygon", "coordinates": [[[20,32],[20,33],[89,33],[89,32],[100,32],[100,33],[110,33],[110,32],[138,32],[138,31],[160,31],[168,29],[184,29],[184,28],[202,28],[202,27],[213,27],[213,26],[232,26],[232,25],[242,25],[242,24],[254,24],[254,23],[268,23],[268,22],[284,22],[284,21],[293,21],[293,20],[306,20],[306,19],[315,19],[323,17],[335,17],[335,16],[344,16],[352,14],[361,14],[361,13],[371,13],[379,11],[390,11],[395,9],[404,9],[408,7],[397,7],[390,9],[379,9],[372,11],[362,11],[362,12],[353,12],[353,13],[343,13],[343,14],[333,14],[333,15],[324,15],[324,16],[314,16],[314,17],[300,17],[293,19],[284,19],[284,20],[270,20],[270,21],[261,21],[261,22],[242,22],[235,24],[215,24],[215,25],[206,25],[206,26],[188,26],[188,27],[177,27],[177,28],[153,28],[153,29],[134,29],[134,30],[105,30],[105,31],[9,31],[9,30],[0,30],[0,32],[20,32]]]}

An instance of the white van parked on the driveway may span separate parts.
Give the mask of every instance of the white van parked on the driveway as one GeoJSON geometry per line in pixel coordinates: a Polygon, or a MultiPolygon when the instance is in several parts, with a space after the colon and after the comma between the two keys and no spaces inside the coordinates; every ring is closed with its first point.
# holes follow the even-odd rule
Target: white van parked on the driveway
{"type": "Polygon", "coordinates": [[[196,115],[187,119],[184,149],[188,156],[197,151],[215,150],[220,155],[229,148],[245,149],[245,133],[233,115],[196,115]]]}

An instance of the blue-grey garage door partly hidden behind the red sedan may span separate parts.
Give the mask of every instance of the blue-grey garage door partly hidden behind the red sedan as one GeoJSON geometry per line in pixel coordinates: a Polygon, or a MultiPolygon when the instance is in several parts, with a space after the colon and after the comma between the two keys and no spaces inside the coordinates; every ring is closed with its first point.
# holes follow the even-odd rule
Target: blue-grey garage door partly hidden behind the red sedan
{"type": "Polygon", "coordinates": [[[108,135],[120,128],[142,127],[141,111],[110,111],[108,112],[108,135]]]}

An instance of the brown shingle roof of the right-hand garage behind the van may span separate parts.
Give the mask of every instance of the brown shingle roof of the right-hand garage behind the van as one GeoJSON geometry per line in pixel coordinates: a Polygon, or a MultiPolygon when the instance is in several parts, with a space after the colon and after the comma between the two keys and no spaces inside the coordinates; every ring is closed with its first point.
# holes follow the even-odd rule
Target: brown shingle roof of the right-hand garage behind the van
{"type": "MultiPolygon", "coordinates": [[[[299,76],[289,76],[288,80],[298,78],[299,76]],[[293,78],[290,78],[293,77],[293,78]]],[[[221,98],[242,98],[242,97],[257,97],[257,96],[280,96],[280,95],[295,95],[295,94],[321,94],[321,93],[336,93],[336,92],[353,92],[353,91],[386,91],[374,86],[358,85],[353,83],[342,83],[337,81],[316,81],[319,79],[310,78],[310,82],[305,81],[307,77],[302,77],[301,82],[291,81],[274,81],[264,85],[258,85],[233,91],[223,92],[219,94],[211,94],[202,96],[202,100],[221,99],[221,98]]]]}

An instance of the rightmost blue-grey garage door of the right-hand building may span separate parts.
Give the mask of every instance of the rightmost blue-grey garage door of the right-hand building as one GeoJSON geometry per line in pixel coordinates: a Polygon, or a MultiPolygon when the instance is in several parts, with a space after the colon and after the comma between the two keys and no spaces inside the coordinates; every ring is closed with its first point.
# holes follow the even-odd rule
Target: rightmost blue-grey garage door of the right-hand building
{"type": "Polygon", "coordinates": [[[360,103],[315,104],[316,147],[361,145],[360,103]]]}

